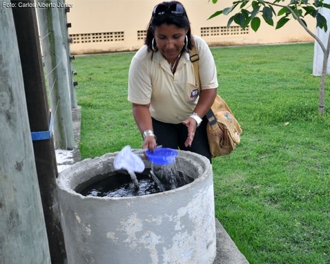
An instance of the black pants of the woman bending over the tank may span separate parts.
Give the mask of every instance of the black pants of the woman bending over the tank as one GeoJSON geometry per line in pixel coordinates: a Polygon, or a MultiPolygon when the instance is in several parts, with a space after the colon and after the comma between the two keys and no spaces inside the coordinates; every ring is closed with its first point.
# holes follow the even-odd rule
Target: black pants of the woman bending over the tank
{"type": "Polygon", "coordinates": [[[153,118],[153,133],[155,133],[157,137],[158,145],[171,149],[195,152],[204,155],[212,163],[206,134],[207,122],[207,118],[204,117],[202,123],[196,129],[191,147],[184,146],[184,142],[188,138],[188,128],[182,123],[168,124],[153,118]]]}

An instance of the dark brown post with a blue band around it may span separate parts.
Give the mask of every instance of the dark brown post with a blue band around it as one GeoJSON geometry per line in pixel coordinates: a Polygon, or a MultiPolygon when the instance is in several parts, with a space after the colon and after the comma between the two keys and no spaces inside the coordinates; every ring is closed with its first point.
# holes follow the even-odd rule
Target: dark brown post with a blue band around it
{"type": "MultiPolygon", "coordinates": [[[[17,33],[23,82],[28,107],[28,119],[32,132],[52,131],[46,84],[41,60],[41,48],[35,8],[20,8],[19,3],[34,3],[34,0],[15,0],[12,8],[17,33]]],[[[7,50],[8,52],[8,50],[7,50]]],[[[57,161],[51,133],[43,140],[33,140],[35,164],[39,180],[41,202],[46,223],[50,258],[52,264],[65,264],[66,249],[61,229],[61,216],[57,200],[57,161]]],[[[28,135],[31,139],[31,135],[28,135]]],[[[29,155],[28,153],[26,155],[29,155]]],[[[12,263],[12,262],[10,262],[12,263]]],[[[21,263],[26,263],[23,261],[21,263]]]]}

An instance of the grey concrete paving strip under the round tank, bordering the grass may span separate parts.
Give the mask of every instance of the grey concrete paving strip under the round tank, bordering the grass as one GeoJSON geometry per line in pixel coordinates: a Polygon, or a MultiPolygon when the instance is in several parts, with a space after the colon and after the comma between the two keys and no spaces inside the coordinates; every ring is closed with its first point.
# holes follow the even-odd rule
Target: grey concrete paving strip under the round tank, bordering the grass
{"type": "MultiPolygon", "coordinates": [[[[57,169],[59,173],[80,160],[80,108],[72,110],[73,132],[76,147],[72,151],[62,149],[56,150],[57,169]]],[[[217,256],[213,264],[249,264],[245,256],[237,249],[229,234],[222,227],[219,220],[215,218],[215,229],[217,236],[217,256]]]]}

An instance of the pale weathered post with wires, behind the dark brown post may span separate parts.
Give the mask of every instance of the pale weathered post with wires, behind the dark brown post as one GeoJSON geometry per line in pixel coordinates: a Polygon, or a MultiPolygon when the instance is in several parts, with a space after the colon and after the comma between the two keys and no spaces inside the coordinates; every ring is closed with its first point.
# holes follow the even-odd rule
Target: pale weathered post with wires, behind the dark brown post
{"type": "Polygon", "coordinates": [[[72,128],[68,62],[59,23],[57,0],[38,0],[49,8],[38,8],[39,30],[46,78],[50,93],[50,106],[54,114],[54,138],[56,149],[73,149],[75,140],[72,128]]]}

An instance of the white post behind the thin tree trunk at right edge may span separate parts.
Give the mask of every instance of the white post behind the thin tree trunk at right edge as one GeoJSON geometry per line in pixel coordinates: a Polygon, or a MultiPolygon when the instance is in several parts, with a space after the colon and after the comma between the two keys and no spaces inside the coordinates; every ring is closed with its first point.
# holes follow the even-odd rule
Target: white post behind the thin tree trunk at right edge
{"type": "MultiPolygon", "coordinates": [[[[330,3],[330,0],[324,0],[324,3],[330,3]]],[[[327,19],[327,32],[324,32],[321,28],[316,28],[316,36],[322,41],[322,44],[327,47],[329,32],[330,32],[330,10],[329,8],[320,8],[320,14],[327,19]]],[[[327,73],[330,73],[330,61],[327,65],[327,73]]],[[[314,59],[313,59],[313,75],[320,76],[322,75],[323,67],[323,51],[317,41],[314,43],[314,59]]]]}

